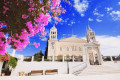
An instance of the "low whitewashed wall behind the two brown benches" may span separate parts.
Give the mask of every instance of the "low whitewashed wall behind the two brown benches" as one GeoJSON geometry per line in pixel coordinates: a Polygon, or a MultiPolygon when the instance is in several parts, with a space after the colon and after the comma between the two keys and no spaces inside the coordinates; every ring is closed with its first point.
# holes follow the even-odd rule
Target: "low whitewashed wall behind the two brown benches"
{"type": "Polygon", "coordinates": [[[74,66],[80,65],[83,62],[24,62],[20,61],[17,67],[12,71],[11,76],[18,76],[18,72],[29,73],[31,70],[47,70],[58,69],[58,74],[67,74],[67,65],[69,65],[69,71],[72,73],[74,66]]]}

